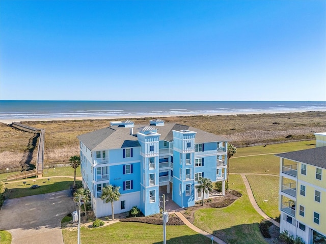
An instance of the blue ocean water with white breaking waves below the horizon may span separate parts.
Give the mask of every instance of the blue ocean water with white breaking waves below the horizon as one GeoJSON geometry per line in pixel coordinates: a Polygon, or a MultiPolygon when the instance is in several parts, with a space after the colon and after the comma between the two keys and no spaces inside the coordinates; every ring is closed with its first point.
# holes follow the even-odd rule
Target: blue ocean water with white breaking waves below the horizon
{"type": "Polygon", "coordinates": [[[326,111],[326,102],[0,101],[1,119],[326,111]]]}

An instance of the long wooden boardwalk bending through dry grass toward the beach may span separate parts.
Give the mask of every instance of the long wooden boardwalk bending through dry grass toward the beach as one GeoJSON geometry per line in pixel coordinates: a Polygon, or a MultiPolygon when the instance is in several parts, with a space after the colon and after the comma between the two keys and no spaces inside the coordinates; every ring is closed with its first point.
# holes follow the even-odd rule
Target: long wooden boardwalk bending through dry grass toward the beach
{"type": "Polygon", "coordinates": [[[7,177],[7,180],[17,180],[17,179],[24,179],[32,176],[42,176],[43,169],[44,169],[44,138],[45,138],[45,130],[44,129],[37,129],[34,127],[26,126],[20,123],[13,122],[11,124],[12,127],[15,127],[19,130],[24,130],[33,133],[40,133],[39,137],[39,144],[37,150],[37,159],[36,159],[36,169],[28,170],[25,172],[21,172],[18,174],[14,174],[7,177]]]}

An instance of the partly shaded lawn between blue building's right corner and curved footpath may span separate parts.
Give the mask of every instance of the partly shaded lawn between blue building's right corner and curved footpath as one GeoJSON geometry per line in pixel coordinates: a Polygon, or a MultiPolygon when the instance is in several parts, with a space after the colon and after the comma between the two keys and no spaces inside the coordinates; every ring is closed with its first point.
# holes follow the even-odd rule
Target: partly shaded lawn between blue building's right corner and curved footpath
{"type": "Polygon", "coordinates": [[[195,212],[194,225],[214,233],[227,243],[267,243],[259,230],[263,219],[251,205],[240,175],[230,175],[230,189],[243,194],[224,208],[204,208],[195,212]]]}

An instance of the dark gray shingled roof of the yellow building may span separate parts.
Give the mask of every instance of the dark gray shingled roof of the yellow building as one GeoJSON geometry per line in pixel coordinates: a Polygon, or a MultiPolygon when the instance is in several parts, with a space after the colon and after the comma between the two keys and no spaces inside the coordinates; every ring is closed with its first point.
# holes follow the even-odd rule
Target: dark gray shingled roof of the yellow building
{"type": "Polygon", "coordinates": [[[291,151],[290,153],[276,154],[275,156],[326,169],[326,146],[291,151]]]}

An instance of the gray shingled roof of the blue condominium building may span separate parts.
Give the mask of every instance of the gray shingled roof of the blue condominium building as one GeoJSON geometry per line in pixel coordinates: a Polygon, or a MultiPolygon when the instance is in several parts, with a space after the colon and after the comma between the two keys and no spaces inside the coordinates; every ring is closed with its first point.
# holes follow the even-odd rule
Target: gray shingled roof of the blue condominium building
{"type": "MultiPolygon", "coordinates": [[[[139,125],[139,129],[149,129],[148,125],[139,125]]],[[[151,130],[158,130],[151,127],[151,130]]],[[[222,136],[218,136],[209,132],[199,130],[194,127],[179,125],[179,124],[165,124],[165,126],[159,127],[158,134],[160,134],[160,140],[173,141],[173,131],[190,130],[195,131],[195,143],[204,142],[218,142],[228,141],[222,136]]],[[[137,135],[130,135],[130,128],[111,126],[103,128],[97,131],[93,131],[84,135],[79,135],[77,138],[82,141],[90,150],[105,150],[108,148],[121,148],[121,147],[133,147],[140,146],[137,135]]],[[[137,133],[137,131],[133,133],[137,133]]]]}

